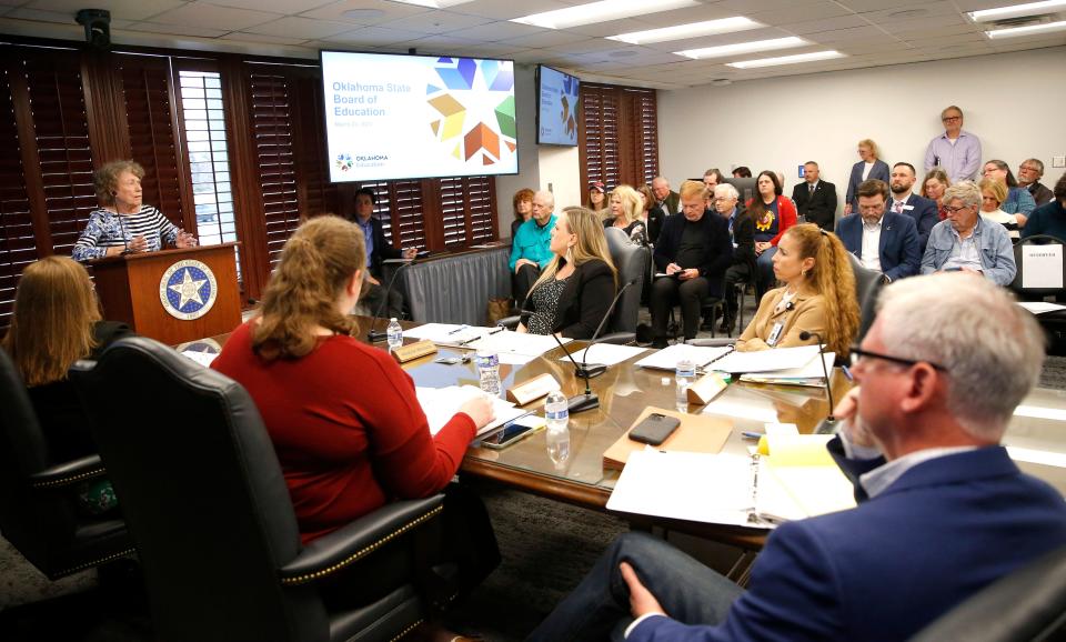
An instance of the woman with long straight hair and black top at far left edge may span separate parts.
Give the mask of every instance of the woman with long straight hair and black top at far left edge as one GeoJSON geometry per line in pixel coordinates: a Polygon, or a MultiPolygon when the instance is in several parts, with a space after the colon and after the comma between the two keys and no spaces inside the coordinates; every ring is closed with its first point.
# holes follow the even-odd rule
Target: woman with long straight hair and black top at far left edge
{"type": "MultiPolygon", "coordinates": [[[[67,370],[130,333],[124,323],[101,320],[89,272],[74,260],[47,257],[22,271],[3,347],[26,382],[53,461],[97,453],[91,422],[67,370]]],[[[78,494],[79,505],[94,513],[117,505],[102,478],[83,484],[78,494]]]]}

